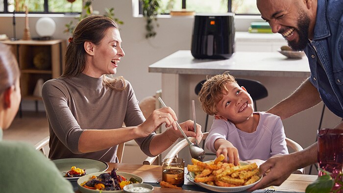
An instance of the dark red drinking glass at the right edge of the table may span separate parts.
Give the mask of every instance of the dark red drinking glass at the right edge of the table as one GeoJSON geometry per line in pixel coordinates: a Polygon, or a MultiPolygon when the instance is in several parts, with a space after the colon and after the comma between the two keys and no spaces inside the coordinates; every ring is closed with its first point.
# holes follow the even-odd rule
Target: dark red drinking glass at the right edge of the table
{"type": "MultiPolygon", "coordinates": [[[[319,129],[318,131],[318,165],[320,169],[332,173],[331,177],[343,169],[343,129],[319,129]]],[[[324,175],[319,170],[318,176],[324,175]]]]}

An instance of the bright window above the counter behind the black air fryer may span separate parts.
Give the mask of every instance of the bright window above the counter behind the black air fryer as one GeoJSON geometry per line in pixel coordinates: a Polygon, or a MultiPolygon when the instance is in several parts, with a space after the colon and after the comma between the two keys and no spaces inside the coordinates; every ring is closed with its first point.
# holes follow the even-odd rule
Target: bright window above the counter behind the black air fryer
{"type": "Polygon", "coordinates": [[[256,0],[160,0],[161,14],[169,14],[170,10],[181,8],[194,10],[196,13],[233,12],[236,15],[260,15],[256,0]]]}

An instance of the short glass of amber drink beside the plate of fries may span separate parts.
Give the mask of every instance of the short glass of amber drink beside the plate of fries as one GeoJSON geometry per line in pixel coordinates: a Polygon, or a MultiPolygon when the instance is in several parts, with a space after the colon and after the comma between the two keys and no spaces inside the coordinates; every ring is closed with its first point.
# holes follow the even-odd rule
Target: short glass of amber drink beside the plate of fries
{"type": "Polygon", "coordinates": [[[182,158],[162,160],[162,180],[181,187],[185,177],[185,161],[182,158]]]}

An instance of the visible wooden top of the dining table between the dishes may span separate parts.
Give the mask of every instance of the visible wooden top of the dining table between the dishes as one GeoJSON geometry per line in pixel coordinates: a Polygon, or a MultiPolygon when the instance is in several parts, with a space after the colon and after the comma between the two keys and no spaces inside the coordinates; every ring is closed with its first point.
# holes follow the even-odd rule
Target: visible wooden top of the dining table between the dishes
{"type": "MultiPolygon", "coordinates": [[[[157,165],[136,165],[136,164],[124,164],[124,163],[107,163],[108,169],[106,171],[111,171],[116,168],[118,171],[133,173],[142,177],[143,183],[150,184],[154,186],[154,193],[211,193],[211,191],[196,186],[193,182],[190,182],[185,177],[184,185],[182,190],[161,188],[159,182],[162,181],[162,166],[157,165]]],[[[187,168],[185,168],[185,173],[187,173],[187,168]]],[[[284,181],[280,186],[273,186],[275,190],[274,193],[304,193],[306,187],[317,179],[317,175],[306,175],[306,174],[291,174],[286,181],[284,181]]],[[[77,186],[77,185],[76,185],[77,186]]],[[[75,187],[76,188],[76,187],[75,187]]],[[[75,190],[75,189],[74,189],[75,190]]],[[[265,193],[266,190],[256,190],[252,193],[265,193]]],[[[75,193],[81,193],[79,190],[75,190],[75,193]]],[[[248,193],[248,192],[242,192],[248,193]]]]}

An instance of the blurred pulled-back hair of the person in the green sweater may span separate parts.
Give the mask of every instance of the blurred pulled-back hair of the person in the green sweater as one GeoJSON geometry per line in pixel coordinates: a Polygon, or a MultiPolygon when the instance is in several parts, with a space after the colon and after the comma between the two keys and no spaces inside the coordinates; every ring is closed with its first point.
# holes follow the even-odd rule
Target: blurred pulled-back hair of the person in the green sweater
{"type": "Polygon", "coordinates": [[[9,46],[0,43],[0,94],[16,83],[20,72],[9,46]]]}

